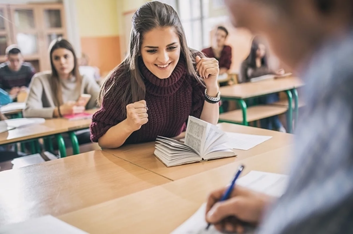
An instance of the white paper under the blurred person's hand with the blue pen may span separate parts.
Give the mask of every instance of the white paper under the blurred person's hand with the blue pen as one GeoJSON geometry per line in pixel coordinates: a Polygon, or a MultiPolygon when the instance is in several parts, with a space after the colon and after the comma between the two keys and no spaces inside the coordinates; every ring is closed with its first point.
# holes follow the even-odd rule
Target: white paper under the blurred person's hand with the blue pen
{"type": "MultiPolygon", "coordinates": [[[[237,181],[241,185],[254,191],[263,192],[271,196],[280,197],[287,186],[288,177],[281,174],[251,171],[237,181]]],[[[181,224],[171,234],[220,234],[211,226],[205,230],[207,223],[205,220],[206,204],[193,214],[188,220],[181,224]]]]}

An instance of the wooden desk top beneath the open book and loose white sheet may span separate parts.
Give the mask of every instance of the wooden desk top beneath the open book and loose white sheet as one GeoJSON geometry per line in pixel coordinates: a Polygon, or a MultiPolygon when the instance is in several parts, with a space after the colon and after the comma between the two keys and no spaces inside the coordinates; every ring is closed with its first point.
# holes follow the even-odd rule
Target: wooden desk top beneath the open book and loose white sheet
{"type": "Polygon", "coordinates": [[[238,155],[236,157],[210,160],[207,162],[198,162],[176,167],[166,167],[154,156],[153,152],[155,142],[128,145],[118,149],[104,149],[104,151],[114,154],[118,158],[127,160],[168,179],[177,180],[193,174],[208,171],[231,162],[239,161],[249,156],[265,153],[292,144],[293,136],[291,134],[229,123],[221,123],[219,126],[223,131],[273,137],[250,150],[234,150],[234,152],[238,155]]]}

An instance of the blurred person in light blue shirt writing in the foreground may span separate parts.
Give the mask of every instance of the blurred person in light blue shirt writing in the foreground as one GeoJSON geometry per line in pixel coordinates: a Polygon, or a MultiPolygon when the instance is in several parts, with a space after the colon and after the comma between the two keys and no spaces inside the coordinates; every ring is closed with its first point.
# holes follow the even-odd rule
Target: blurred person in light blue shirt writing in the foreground
{"type": "Polygon", "coordinates": [[[236,216],[259,224],[260,234],[353,233],[353,1],[225,2],[235,26],[266,36],[304,80],[307,109],[285,194],[275,201],[236,186],[217,202],[224,189],[214,191],[207,221],[229,232],[242,230],[225,221],[236,216]]]}

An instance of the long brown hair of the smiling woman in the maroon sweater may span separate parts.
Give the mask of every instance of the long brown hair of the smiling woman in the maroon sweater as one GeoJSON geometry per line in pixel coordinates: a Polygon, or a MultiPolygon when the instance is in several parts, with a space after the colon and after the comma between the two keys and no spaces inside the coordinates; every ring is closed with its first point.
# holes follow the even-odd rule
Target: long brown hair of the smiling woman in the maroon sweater
{"type": "Polygon", "coordinates": [[[143,36],[146,32],[156,27],[174,27],[180,40],[180,56],[183,56],[186,63],[186,73],[193,76],[203,84],[202,79],[195,70],[195,57],[204,57],[199,51],[190,49],[186,43],[184,28],[181,25],[179,16],[173,7],[158,1],[147,2],[142,5],[132,17],[132,29],[130,36],[129,53],[104,80],[98,104],[102,104],[104,98],[109,98],[113,87],[122,82],[122,79],[129,79],[128,86],[122,96],[121,110],[126,111],[125,106],[145,98],[145,84],[138,66],[138,57],[142,45],[143,36]]]}

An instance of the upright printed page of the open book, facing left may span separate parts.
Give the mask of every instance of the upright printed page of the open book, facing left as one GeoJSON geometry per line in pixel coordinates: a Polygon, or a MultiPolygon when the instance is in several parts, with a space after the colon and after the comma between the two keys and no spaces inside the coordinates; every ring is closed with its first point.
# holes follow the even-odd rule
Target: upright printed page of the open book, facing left
{"type": "Polygon", "coordinates": [[[195,149],[200,155],[203,154],[209,124],[192,116],[189,116],[187,122],[185,144],[195,149]]]}

